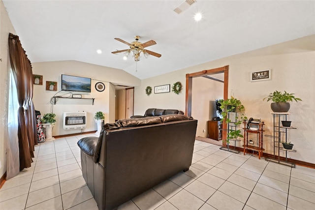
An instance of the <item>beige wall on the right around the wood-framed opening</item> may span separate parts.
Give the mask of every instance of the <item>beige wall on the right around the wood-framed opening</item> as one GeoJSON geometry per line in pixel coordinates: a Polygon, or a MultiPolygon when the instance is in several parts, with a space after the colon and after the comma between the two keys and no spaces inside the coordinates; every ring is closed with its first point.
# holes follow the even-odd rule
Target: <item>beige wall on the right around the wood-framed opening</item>
{"type": "MultiPolygon", "coordinates": [[[[273,131],[273,118],[270,114],[270,103],[262,101],[274,90],[296,93],[302,102],[291,103],[288,119],[296,130],[289,130],[288,138],[294,144],[297,152],[288,152],[288,157],[315,163],[315,35],[284,42],[251,52],[214,60],[189,68],[177,70],[168,74],[142,80],[140,87],[135,87],[135,115],[143,114],[147,108],[174,108],[185,110],[185,75],[229,65],[228,97],[231,95],[241,100],[248,117],[259,118],[265,122],[264,134],[273,131]],[[252,71],[272,69],[272,79],[251,82],[252,71]],[[174,84],[180,81],[183,91],[179,95],[174,93],[145,94],[147,86],[174,84]]],[[[193,97],[204,97],[203,93],[193,97]]],[[[192,104],[192,107],[195,105],[192,104]]],[[[202,119],[202,116],[193,116],[202,119]]],[[[199,121],[198,121],[199,126],[199,121]]],[[[263,138],[267,153],[273,152],[271,138],[263,138]]],[[[237,144],[242,147],[242,142],[237,144]]],[[[282,153],[281,155],[284,155],[282,153]]]]}

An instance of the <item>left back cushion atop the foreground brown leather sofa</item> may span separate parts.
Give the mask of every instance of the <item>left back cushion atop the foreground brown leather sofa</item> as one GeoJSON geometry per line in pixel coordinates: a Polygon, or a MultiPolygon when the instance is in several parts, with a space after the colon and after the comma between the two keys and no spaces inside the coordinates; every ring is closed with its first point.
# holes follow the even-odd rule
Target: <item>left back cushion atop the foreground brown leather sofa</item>
{"type": "Polygon", "coordinates": [[[162,120],[159,117],[146,117],[136,119],[121,119],[117,120],[117,123],[119,123],[122,127],[137,127],[162,123],[162,120]]]}

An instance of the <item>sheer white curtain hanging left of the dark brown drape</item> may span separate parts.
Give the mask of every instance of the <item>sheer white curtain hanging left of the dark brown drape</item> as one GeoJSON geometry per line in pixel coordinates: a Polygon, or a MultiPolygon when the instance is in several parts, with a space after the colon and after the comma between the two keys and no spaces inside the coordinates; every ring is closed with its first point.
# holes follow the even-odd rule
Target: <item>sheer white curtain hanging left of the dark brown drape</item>
{"type": "Polygon", "coordinates": [[[6,151],[6,179],[11,179],[20,173],[20,154],[18,139],[18,96],[12,70],[9,79],[8,101],[8,136],[6,151]]]}

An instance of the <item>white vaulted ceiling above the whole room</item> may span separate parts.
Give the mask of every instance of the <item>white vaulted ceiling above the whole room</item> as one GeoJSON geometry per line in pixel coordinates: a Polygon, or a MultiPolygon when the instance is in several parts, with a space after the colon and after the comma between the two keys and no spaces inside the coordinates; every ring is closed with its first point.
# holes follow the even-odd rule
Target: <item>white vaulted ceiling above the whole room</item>
{"type": "Polygon", "coordinates": [[[183,2],[3,0],[31,62],[78,60],[139,79],[315,34],[314,0],[196,0],[174,12],[183,2]],[[155,40],[146,49],[162,56],[136,62],[111,53],[128,48],[114,38],[130,43],[135,35],[155,40]]]}

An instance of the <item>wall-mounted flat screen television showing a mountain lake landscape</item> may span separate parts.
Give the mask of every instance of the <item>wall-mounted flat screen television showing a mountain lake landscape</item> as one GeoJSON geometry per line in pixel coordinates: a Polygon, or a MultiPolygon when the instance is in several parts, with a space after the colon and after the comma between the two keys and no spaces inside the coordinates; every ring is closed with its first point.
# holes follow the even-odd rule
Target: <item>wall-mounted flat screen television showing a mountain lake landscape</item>
{"type": "Polygon", "coordinates": [[[91,92],[91,78],[62,74],[61,90],[91,92]]]}

